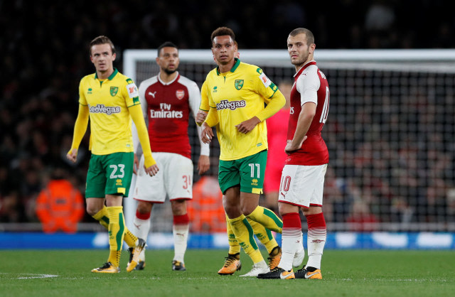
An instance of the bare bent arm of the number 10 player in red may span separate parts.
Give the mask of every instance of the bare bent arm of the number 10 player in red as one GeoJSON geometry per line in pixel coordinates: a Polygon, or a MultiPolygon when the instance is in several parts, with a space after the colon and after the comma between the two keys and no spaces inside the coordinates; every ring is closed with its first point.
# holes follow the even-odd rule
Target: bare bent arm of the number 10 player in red
{"type": "Polygon", "coordinates": [[[298,150],[304,144],[305,139],[307,138],[306,132],[311,126],[311,121],[313,121],[314,114],[316,114],[316,104],[314,102],[306,102],[301,107],[301,112],[299,114],[299,121],[297,121],[296,131],[294,133],[294,138],[292,141],[288,141],[284,151],[286,153],[291,153],[298,150]]]}

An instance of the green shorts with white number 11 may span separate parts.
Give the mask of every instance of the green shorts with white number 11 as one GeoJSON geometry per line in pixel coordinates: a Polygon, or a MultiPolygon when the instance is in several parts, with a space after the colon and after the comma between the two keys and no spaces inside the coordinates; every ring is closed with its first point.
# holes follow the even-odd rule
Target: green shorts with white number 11
{"type": "Polygon", "coordinates": [[[267,150],[238,160],[220,160],[218,182],[224,194],[228,188],[240,185],[240,192],[262,194],[267,150]]]}

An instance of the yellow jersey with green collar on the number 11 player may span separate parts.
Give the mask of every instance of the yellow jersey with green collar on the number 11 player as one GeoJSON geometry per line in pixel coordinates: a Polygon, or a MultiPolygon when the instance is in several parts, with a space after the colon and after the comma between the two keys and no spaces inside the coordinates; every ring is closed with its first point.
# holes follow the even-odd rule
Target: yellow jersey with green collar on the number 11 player
{"type": "Polygon", "coordinates": [[[205,122],[209,126],[218,124],[220,160],[237,160],[267,149],[264,120],[277,113],[286,99],[262,69],[235,59],[229,72],[220,73],[215,68],[208,73],[204,84],[210,105],[205,122]],[[247,134],[237,131],[235,125],[252,117],[261,122],[247,134]]]}

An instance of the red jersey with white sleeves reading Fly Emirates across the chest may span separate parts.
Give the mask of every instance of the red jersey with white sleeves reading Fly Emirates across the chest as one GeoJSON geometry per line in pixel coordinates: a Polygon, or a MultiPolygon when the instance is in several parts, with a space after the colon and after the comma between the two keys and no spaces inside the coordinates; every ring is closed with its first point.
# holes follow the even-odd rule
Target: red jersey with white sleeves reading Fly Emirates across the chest
{"type": "Polygon", "coordinates": [[[149,126],[151,151],[191,158],[188,119],[190,111],[196,116],[200,103],[196,82],[178,75],[165,84],[154,76],[141,82],[139,97],[149,126]]]}

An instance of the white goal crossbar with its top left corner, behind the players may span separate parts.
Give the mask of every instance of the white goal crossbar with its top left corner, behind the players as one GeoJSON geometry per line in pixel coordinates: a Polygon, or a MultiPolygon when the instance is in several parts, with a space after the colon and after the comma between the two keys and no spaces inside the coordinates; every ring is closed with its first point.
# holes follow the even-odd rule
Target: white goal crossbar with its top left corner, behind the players
{"type": "MultiPolygon", "coordinates": [[[[287,50],[239,50],[240,60],[264,66],[292,67],[287,50]]],[[[181,62],[213,65],[211,50],[179,50],[181,62]]],[[[124,75],[137,81],[139,61],[155,64],[156,50],[125,50],[124,75]]],[[[314,58],[321,69],[455,72],[455,50],[318,50],[314,58]]]]}

